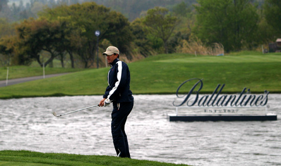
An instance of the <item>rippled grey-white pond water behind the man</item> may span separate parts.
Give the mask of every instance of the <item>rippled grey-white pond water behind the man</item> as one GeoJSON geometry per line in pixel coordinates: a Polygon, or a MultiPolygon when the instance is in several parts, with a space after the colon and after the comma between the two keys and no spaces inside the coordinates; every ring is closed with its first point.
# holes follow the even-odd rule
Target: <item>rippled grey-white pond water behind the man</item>
{"type": "MultiPolygon", "coordinates": [[[[131,157],[192,165],[279,165],[281,121],[169,122],[175,95],[135,95],[128,117],[131,157]],[[153,101],[153,102],[152,102],[153,101]],[[156,102],[157,101],[157,102],[156,102]]],[[[109,107],[101,96],[0,100],[0,150],[115,155],[109,107]]],[[[269,112],[281,115],[281,94],[269,94],[269,112]]]]}

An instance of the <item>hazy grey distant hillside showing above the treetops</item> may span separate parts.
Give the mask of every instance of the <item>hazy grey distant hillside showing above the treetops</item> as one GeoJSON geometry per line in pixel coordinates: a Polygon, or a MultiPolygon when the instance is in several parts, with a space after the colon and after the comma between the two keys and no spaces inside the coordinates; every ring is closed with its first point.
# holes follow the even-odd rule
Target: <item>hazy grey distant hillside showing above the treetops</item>
{"type": "Polygon", "coordinates": [[[104,5],[111,10],[121,12],[129,21],[133,21],[135,18],[139,17],[140,13],[143,11],[147,11],[156,6],[170,8],[180,2],[184,2],[190,6],[196,3],[196,0],[1,0],[0,17],[5,17],[12,21],[28,19],[29,17],[37,18],[37,12],[42,8],[53,8],[59,5],[69,6],[85,2],[96,2],[98,5],[104,5]],[[1,11],[1,9],[3,10],[1,11]]]}

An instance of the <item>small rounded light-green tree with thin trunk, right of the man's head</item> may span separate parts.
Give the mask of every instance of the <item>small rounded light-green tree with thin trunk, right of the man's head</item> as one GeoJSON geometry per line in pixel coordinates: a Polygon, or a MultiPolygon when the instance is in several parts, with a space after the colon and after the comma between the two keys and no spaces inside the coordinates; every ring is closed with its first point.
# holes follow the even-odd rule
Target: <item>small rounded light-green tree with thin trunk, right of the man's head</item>
{"type": "Polygon", "coordinates": [[[168,40],[172,36],[177,23],[177,17],[172,16],[166,8],[149,9],[147,16],[144,18],[144,24],[147,26],[148,32],[163,41],[166,54],[168,54],[168,40]]]}

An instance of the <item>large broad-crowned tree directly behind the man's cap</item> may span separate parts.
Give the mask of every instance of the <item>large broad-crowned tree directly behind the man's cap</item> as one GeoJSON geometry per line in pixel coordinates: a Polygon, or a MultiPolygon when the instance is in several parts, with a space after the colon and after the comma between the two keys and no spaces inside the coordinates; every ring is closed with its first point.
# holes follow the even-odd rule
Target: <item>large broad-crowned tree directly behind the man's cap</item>
{"type": "Polygon", "coordinates": [[[121,13],[110,11],[96,3],[83,3],[71,6],[61,5],[54,9],[46,9],[39,14],[41,18],[66,22],[69,44],[75,48],[85,68],[92,66],[96,59],[97,36],[95,31],[101,32],[99,41],[107,39],[117,46],[121,53],[129,53],[128,48],[132,40],[129,21],[121,13]],[[74,36],[75,35],[75,36],[74,36]],[[76,38],[70,40],[70,38],[76,38]]]}

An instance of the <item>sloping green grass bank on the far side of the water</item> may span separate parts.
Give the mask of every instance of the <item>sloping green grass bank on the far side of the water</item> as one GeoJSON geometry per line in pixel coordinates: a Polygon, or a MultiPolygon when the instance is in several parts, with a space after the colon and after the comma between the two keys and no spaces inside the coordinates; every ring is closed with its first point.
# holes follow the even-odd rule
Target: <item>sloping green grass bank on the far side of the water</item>
{"type": "MultiPolygon", "coordinates": [[[[222,93],[281,92],[281,53],[242,52],[225,56],[162,54],[129,63],[131,90],[134,94],[175,94],[177,87],[190,78],[203,79],[200,93],[212,93],[225,84],[222,93]]],[[[103,94],[109,68],[90,69],[68,75],[36,80],[0,88],[0,98],[75,96],[103,94]]],[[[189,91],[195,82],[185,84],[189,91]]]]}

